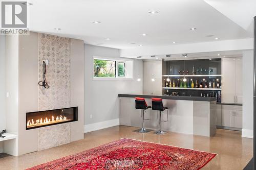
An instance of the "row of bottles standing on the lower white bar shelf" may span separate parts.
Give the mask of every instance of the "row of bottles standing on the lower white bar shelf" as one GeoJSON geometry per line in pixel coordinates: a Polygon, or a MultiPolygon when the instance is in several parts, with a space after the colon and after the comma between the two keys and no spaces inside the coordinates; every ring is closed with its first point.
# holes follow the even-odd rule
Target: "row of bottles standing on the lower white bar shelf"
{"type": "Polygon", "coordinates": [[[173,79],[167,81],[164,79],[165,87],[185,87],[185,88],[221,88],[221,81],[219,79],[210,79],[209,82],[205,79],[196,80],[193,79],[173,79]]]}

